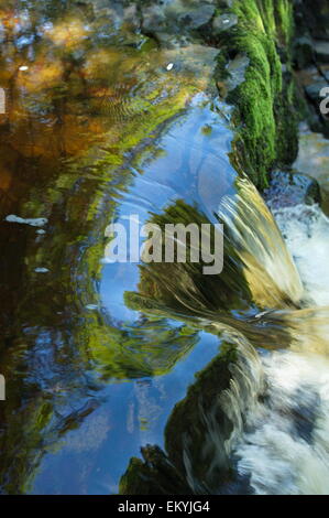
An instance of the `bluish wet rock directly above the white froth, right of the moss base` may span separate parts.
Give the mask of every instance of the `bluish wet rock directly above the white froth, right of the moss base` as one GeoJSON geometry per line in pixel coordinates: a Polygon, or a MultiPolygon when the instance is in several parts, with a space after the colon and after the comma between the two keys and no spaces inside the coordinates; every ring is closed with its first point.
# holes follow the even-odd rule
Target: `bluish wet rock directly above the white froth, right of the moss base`
{"type": "Polygon", "coordinates": [[[315,179],[298,172],[275,171],[264,198],[271,209],[311,205],[321,202],[320,187],[315,179]]]}

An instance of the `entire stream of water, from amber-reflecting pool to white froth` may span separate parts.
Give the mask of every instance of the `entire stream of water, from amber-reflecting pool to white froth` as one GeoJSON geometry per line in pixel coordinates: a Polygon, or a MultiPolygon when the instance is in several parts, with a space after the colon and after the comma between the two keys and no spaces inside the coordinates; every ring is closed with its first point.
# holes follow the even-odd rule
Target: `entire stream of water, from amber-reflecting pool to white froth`
{"type": "Polygon", "coordinates": [[[217,48],[62,3],[0,4],[1,492],[124,492],[142,449],[154,490],[328,494],[328,218],[235,172],[217,48]],[[222,223],[223,272],[111,262],[131,216],[222,223]]]}

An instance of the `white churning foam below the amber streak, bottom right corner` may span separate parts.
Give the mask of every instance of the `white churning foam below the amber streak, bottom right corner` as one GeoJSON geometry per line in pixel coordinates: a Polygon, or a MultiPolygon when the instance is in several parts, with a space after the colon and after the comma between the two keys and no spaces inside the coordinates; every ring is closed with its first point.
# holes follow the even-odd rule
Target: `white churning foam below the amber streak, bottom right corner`
{"type": "Polygon", "coordinates": [[[251,476],[256,494],[329,494],[328,360],[273,353],[264,361],[264,373],[267,399],[249,416],[254,431],[237,449],[239,472],[251,476]],[[303,424],[301,403],[316,414],[310,441],[295,425],[298,413],[303,424]]]}

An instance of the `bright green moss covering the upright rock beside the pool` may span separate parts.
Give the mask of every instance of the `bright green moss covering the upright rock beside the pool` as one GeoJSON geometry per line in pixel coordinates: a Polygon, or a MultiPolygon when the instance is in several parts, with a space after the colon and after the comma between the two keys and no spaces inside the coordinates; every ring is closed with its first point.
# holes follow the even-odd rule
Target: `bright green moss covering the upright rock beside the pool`
{"type": "Polygon", "coordinates": [[[262,188],[271,169],[290,163],[297,153],[298,111],[288,72],[293,9],[287,0],[237,0],[230,12],[239,21],[220,37],[219,79],[226,78],[223,56],[244,54],[250,60],[245,80],[228,95],[235,106],[232,161],[262,188]]]}

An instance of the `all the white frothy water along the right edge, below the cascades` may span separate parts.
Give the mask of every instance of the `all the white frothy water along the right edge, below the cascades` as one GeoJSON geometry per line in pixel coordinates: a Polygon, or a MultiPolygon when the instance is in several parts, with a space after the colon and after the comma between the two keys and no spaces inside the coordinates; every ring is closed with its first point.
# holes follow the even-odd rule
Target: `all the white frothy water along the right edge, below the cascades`
{"type": "Polygon", "coordinates": [[[238,471],[252,493],[328,495],[329,219],[317,205],[281,208],[274,216],[308,309],[282,315],[295,331],[290,348],[262,357],[266,389],[246,412],[234,451],[238,471]]]}

